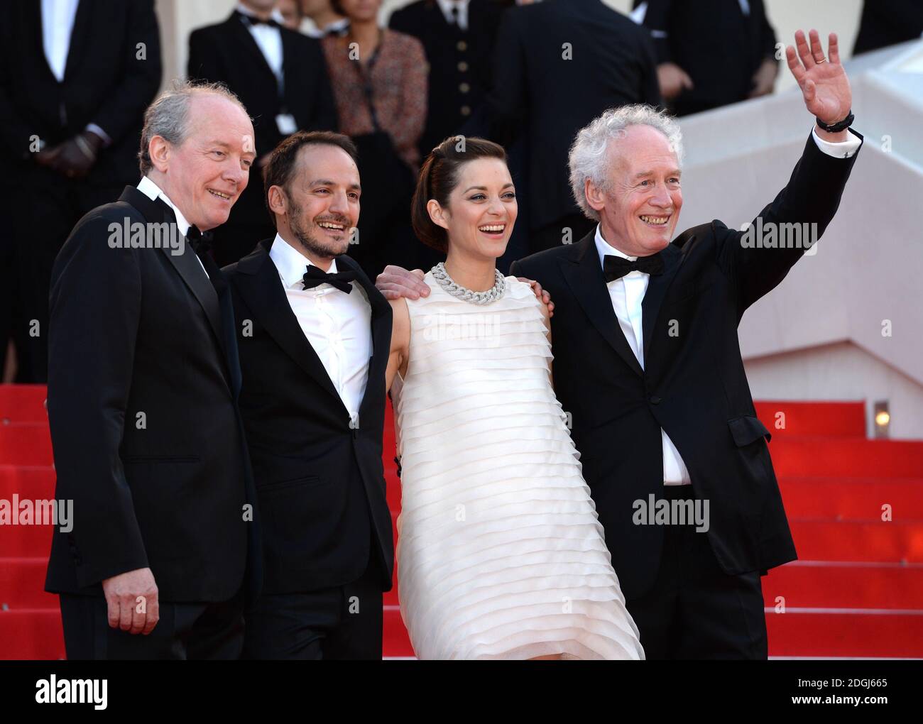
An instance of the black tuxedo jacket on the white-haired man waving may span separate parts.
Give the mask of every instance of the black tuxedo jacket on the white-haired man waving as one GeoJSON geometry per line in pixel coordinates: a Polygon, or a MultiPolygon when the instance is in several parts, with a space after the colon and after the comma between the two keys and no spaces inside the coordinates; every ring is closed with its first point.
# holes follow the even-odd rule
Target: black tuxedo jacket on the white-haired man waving
{"type": "MultiPolygon", "coordinates": [[[[762,223],[833,219],[857,156],[835,159],[809,138],[762,223]]],[[[628,599],[660,564],[661,526],[635,525],[635,501],[662,496],[661,429],[677,446],[697,497],[709,501],[708,537],[728,574],[794,560],[773,473],[770,433],[756,417],[737,343],[750,304],[771,291],[802,249],[745,248],[721,221],[684,231],[662,252],[642,303],[644,369],[622,334],[593,234],[515,262],[555,302],[551,319],[557,398],[572,415],[583,476],[628,599]]]]}

